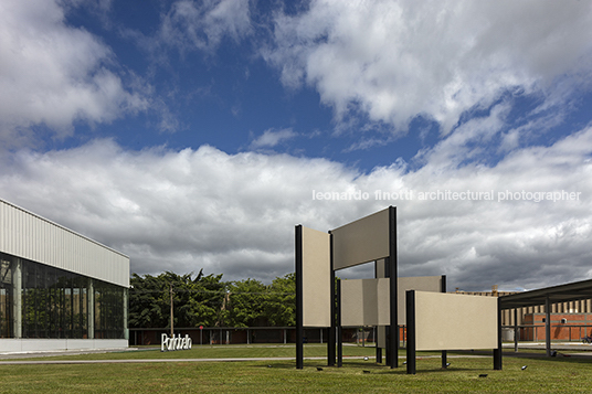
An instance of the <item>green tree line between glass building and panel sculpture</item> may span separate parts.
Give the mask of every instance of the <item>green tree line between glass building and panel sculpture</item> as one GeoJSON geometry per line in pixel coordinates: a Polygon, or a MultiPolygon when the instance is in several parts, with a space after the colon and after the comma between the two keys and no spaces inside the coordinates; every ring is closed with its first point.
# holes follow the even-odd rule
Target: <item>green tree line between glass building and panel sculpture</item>
{"type": "Polygon", "coordinates": [[[296,281],[294,273],[271,285],[256,279],[223,281],[220,275],[158,276],[133,274],[129,289],[129,328],[173,327],[294,327],[296,281]]]}

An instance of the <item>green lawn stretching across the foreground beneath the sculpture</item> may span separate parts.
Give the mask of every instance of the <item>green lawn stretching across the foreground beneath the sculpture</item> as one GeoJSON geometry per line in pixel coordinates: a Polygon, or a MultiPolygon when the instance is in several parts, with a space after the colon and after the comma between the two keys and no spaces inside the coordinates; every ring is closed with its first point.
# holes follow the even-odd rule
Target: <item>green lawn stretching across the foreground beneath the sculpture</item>
{"type": "MultiPolygon", "coordinates": [[[[0,393],[574,393],[592,387],[592,362],[588,359],[506,356],[504,370],[493,371],[490,356],[451,354],[451,366],[441,370],[438,358],[422,354],[417,374],[408,375],[404,365],[391,370],[373,360],[353,358],[373,355],[372,348],[345,347],[343,354],[340,369],[327,368],[326,360],[305,361],[303,370],[296,370],[294,361],[277,360],[0,365],[0,393]],[[522,370],[522,365],[528,368],[522,370]]],[[[305,356],[325,355],[323,345],[305,348],[305,356]]],[[[141,350],[43,360],[262,356],[294,356],[294,347],[203,347],[168,353],[141,350]]]]}

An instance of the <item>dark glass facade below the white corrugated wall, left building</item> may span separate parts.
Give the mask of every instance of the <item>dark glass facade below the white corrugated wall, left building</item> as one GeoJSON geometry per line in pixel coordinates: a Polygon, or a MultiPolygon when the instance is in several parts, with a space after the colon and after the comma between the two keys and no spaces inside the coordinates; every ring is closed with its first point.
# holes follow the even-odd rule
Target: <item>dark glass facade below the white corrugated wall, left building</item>
{"type": "Polygon", "coordinates": [[[0,253],[0,338],[125,339],[125,291],[0,253]]]}

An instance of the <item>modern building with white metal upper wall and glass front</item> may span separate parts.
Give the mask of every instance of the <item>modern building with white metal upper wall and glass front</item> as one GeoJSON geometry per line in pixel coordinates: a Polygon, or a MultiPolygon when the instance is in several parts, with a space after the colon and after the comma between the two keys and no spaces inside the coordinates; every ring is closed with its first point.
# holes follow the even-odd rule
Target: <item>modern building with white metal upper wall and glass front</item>
{"type": "Polygon", "coordinates": [[[0,352],[126,348],[129,257],[0,200],[0,352]]]}

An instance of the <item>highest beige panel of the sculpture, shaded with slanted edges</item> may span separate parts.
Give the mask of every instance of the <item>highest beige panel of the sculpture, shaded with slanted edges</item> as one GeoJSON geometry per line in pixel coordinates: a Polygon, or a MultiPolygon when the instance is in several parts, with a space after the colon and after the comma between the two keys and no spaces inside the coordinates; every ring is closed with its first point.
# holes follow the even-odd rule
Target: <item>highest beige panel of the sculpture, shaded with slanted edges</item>
{"type": "Polygon", "coordinates": [[[334,269],[389,256],[389,209],[332,230],[334,269]]]}

